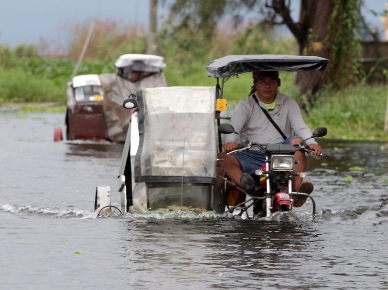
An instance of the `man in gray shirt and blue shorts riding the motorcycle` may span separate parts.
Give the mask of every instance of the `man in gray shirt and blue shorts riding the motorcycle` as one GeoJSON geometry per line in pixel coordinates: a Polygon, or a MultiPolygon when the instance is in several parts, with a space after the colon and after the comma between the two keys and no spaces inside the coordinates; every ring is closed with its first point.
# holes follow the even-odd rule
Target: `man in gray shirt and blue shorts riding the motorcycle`
{"type": "MultiPolygon", "coordinates": [[[[259,144],[298,144],[312,135],[305,124],[298,104],[289,96],[278,91],[280,86],[278,71],[254,71],[251,94],[240,101],[230,119],[236,132],[259,144]],[[293,134],[292,134],[293,133],[293,134]]],[[[241,136],[240,136],[241,137],[241,136]]],[[[261,150],[239,151],[227,155],[227,152],[238,148],[238,135],[226,136],[224,152],[218,154],[217,165],[225,170],[226,177],[254,194],[259,187],[252,175],[261,168],[265,161],[261,150]]],[[[241,142],[244,140],[240,140],[241,142]]],[[[322,154],[322,147],[314,139],[307,140],[307,145],[315,156],[322,154]]],[[[294,173],[304,172],[306,167],[305,153],[295,152],[294,173]]],[[[292,177],[292,190],[310,194],[314,186],[311,182],[302,182],[302,177],[292,177]]],[[[295,196],[294,206],[302,206],[307,197],[295,196]]]]}

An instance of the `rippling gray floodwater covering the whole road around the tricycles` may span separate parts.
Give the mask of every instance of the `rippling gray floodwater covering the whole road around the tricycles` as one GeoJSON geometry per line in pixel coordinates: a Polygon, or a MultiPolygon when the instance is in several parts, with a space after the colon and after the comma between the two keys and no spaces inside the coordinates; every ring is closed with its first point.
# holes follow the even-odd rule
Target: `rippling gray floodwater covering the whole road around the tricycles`
{"type": "Polygon", "coordinates": [[[58,113],[0,113],[1,289],[388,289],[388,144],[321,139],[287,219],[97,218],[121,144],[53,142],[58,113]]]}

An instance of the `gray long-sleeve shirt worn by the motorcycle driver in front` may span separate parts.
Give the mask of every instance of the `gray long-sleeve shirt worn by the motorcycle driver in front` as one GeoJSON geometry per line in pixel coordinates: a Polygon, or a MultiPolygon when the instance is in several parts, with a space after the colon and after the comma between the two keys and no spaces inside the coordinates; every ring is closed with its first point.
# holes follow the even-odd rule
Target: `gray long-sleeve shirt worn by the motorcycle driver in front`
{"type": "MultiPolygon", "coordinates": [[[[257,96],[257,93],[255,94],[257,96]]],[[[275,109],[269,112],[269,114],[283,133],[287,137],[291,135],[299,136],[302,139],[311,137],[312,132],[306,126],[295,100],[277,92],[275,101],[275,109]]],[[[267,110],[260,100],[259,103],[261,107],[267,110]]],[[[267,145],[282,143],[284,141],[252,96],[242,99],[237,104],[230,118],[230,124],[234,127],[235,131],[246,136],[250,142],[267,145]]],[[[239,136],[237,134],[226,135],[225,143],[231,141],[239,143],[239,136]]],[[[314,139],[309,139],[306,143],[317,144],[314,139]]]]}

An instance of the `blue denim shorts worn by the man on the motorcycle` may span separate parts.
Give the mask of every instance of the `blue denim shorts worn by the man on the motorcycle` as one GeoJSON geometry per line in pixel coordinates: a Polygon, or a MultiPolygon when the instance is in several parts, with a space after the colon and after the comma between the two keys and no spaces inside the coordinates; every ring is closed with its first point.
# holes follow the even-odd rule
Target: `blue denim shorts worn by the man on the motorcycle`
{"type": "MultiPolygon", "coordinates": [[[[291,144],[291,140],[298,136],[288,137],[280,144],[291,144]]],[[[234,157],[240,162],[242,166],[242,172],[249,173],[250,175],[255,174],[255,170],[261,169],[261,166],[265,162],[264,152],[261,150],[247,150],[233,153],[234,157]]]]}

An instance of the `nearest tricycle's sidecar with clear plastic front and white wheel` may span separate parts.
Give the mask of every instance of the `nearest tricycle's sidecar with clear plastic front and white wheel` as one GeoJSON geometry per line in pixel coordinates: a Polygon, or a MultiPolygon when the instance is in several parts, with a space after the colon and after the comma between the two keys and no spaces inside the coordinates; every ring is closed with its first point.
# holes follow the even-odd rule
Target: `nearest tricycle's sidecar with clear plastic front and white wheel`
{"type": "MultiPolygon", "coordinates": [[[[120,211],[223,212],[215,186],[215,87],[148,88],[132,100],[136,109],[118,175],[120,211]]],[[[95,210],[110,208],[110,187],[97,186],[95,210]]]]}

